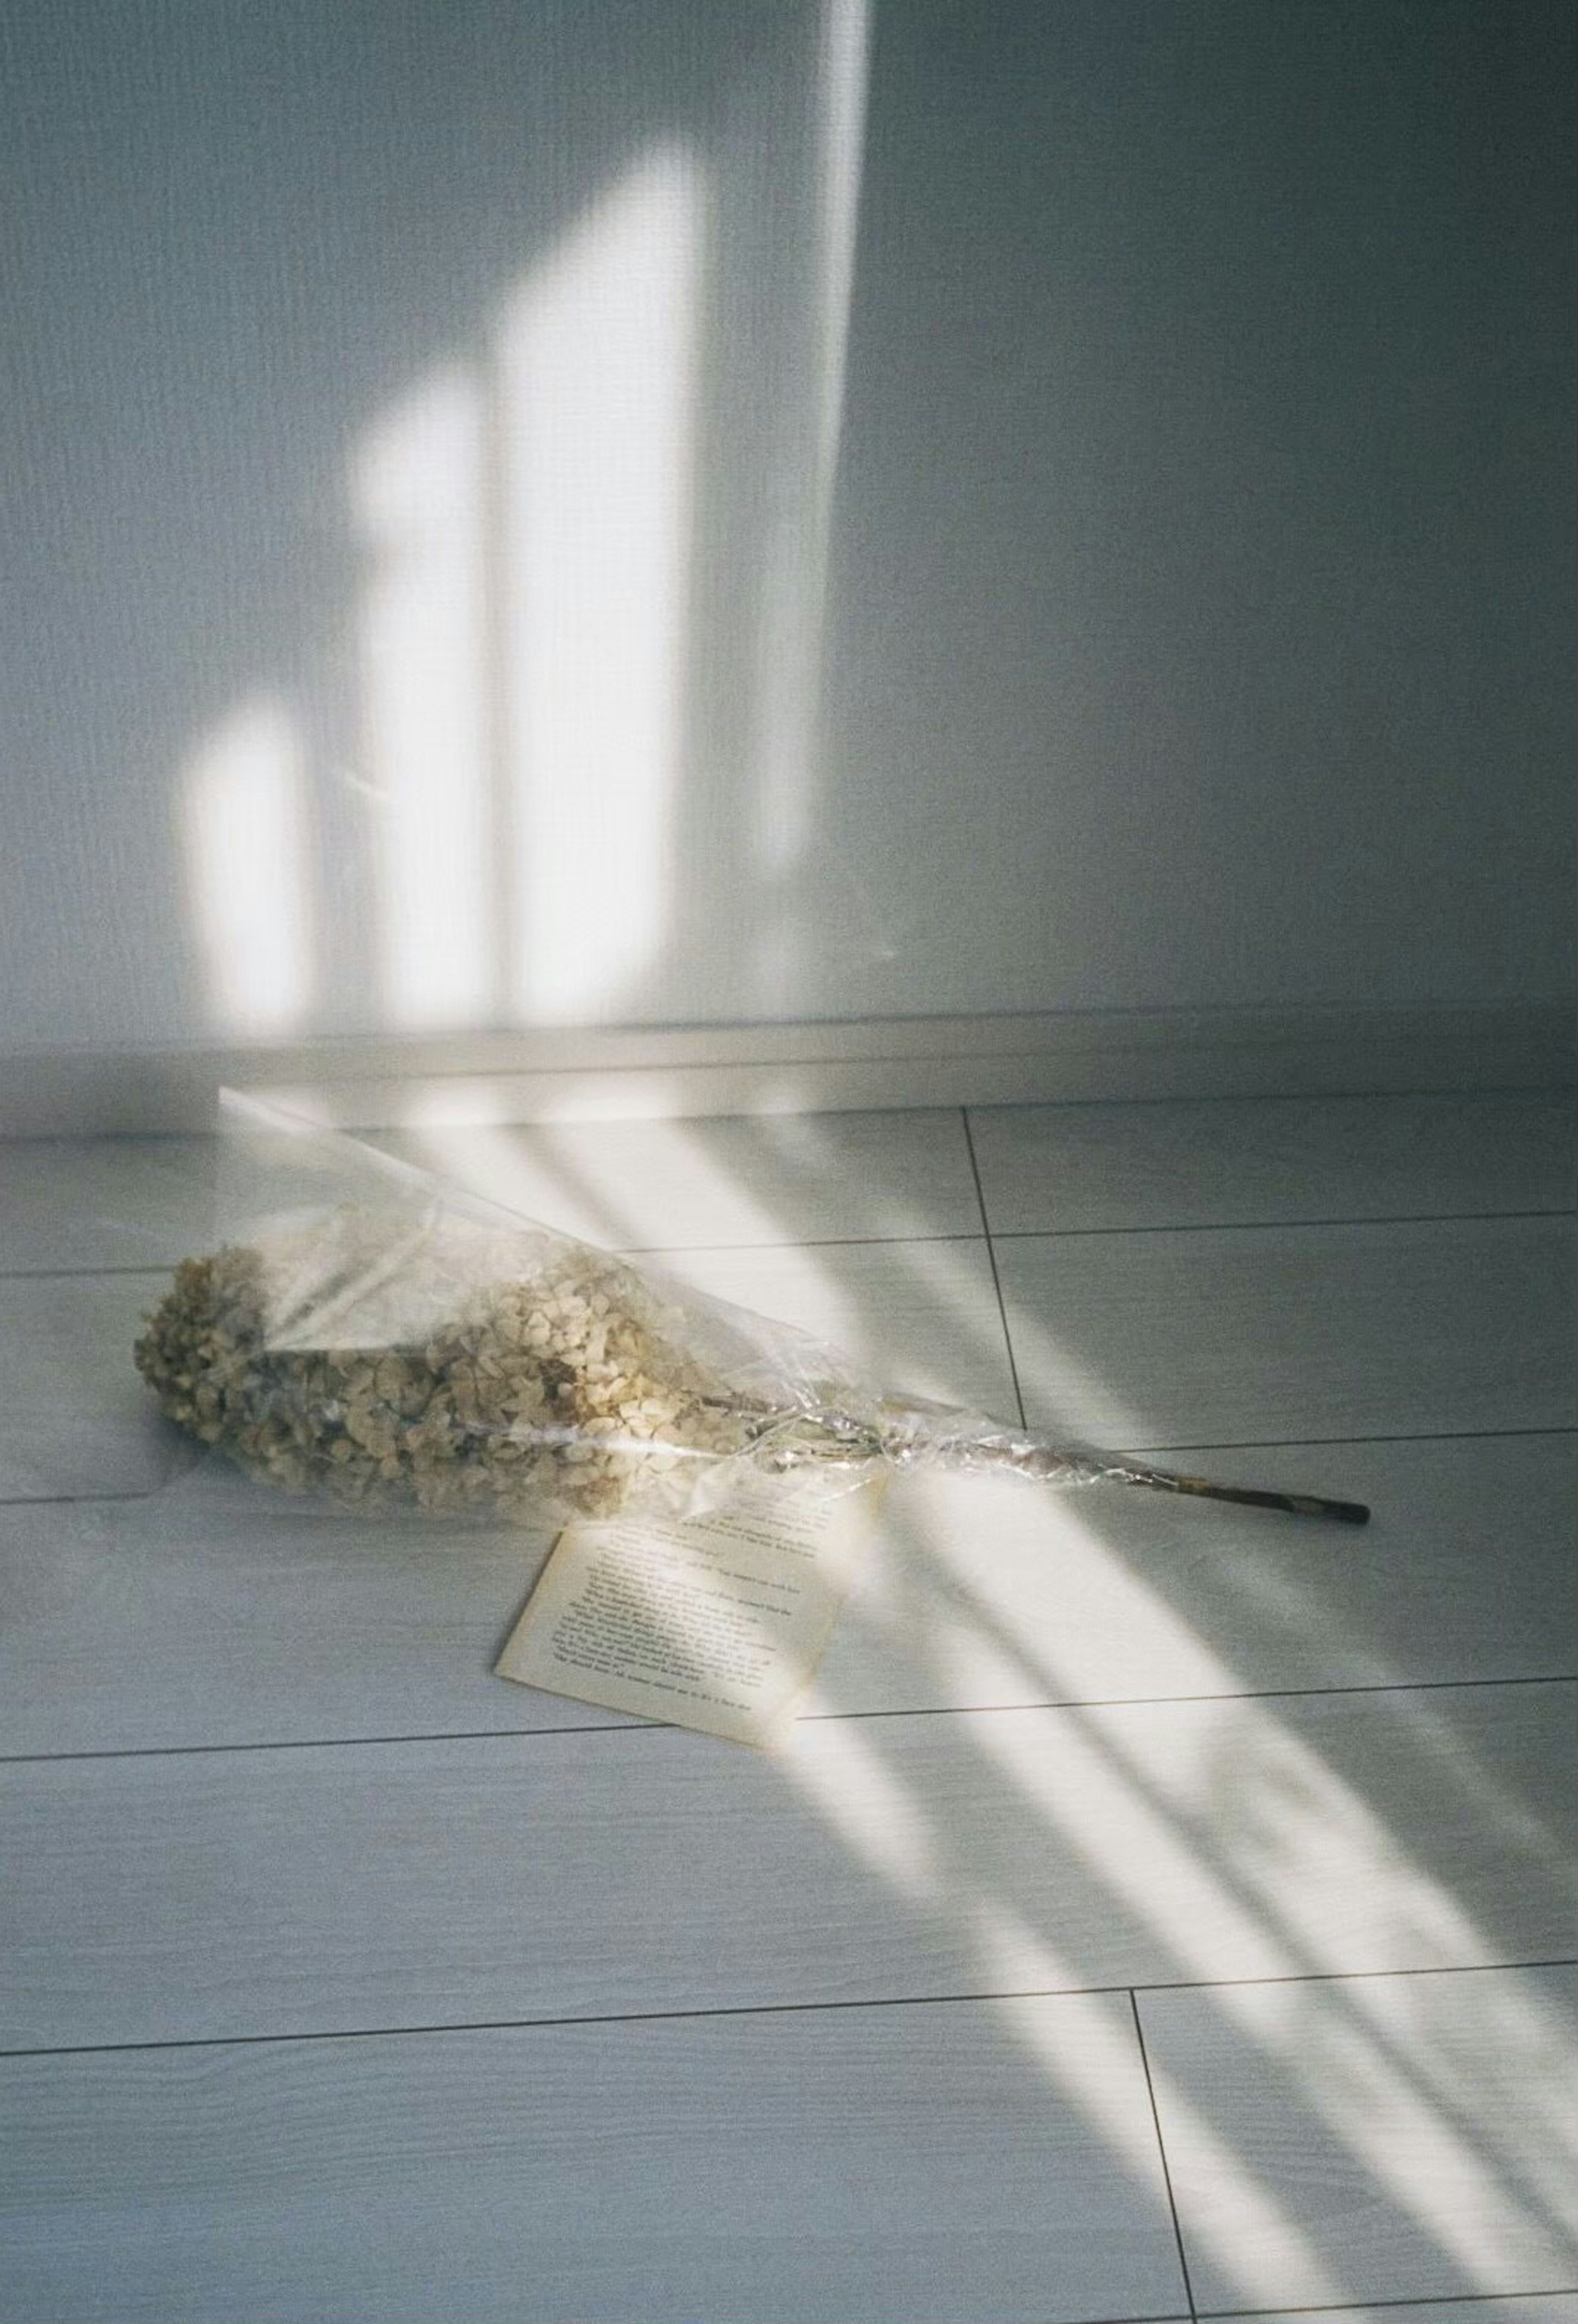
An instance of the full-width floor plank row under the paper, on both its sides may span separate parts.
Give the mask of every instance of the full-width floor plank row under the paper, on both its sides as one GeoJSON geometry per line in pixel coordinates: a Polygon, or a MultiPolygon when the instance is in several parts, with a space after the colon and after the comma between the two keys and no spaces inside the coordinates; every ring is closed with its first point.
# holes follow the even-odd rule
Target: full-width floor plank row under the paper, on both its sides
{"type": "MultiPolygon", "coordinates": [[[[823,1664],[839,1710],[1573,1669],[1571,1436],[1197,1455],[1367,1532],[1148,1492],[899,1480],[823,1664]]],[[[0,1752],[602,1727],[493,1678],[546,1532],[374,1522],[209,1459],[0,1508],[0,1752]]]]}

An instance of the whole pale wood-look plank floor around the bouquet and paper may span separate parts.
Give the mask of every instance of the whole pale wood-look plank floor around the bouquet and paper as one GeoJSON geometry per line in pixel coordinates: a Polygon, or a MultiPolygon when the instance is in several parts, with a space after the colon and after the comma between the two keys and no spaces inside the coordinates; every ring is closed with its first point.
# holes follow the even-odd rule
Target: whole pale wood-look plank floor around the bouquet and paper
{"type": "Polygon", "coordinates": [[[546,1536],[149,1418],[202,1141],[0,1148],[0,2317],[1578,2324],[1571,1099],[388,1134],[895,1387],[765,1759],[490,1676],[546,1536]]]}

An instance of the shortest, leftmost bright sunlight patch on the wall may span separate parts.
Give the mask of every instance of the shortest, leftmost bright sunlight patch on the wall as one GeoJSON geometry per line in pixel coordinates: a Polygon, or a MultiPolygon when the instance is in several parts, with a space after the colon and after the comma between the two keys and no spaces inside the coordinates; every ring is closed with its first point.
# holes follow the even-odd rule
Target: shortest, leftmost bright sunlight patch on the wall
{"type": "Polygon", "coordinates": [[[314,997],[302,744],[270,697],[242,704],[181,776],[181,853],[216,1030],[295,1032],[314,997]]]}

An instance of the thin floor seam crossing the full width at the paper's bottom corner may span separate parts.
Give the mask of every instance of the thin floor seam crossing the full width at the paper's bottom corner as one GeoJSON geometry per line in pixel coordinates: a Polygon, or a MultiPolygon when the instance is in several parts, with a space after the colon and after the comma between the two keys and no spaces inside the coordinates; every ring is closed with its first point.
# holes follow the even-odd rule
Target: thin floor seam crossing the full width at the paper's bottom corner
{"type": "MultiPolygon", "coordinates": [[[[1006,1717],[1020,1710],[1157,1710],[1167,1703],[1281,1703],[1327,1694],[1462,1694],[1483,1687],[1573,1687],[1578,1671],[1538,1671],[1515,1678],[1392,1678],[1348,1687],[1239,1687],[1232,1694],[1085,1694],[1076,1699],[1041,1699],[1025,1703],[909,1703],[895,1710],[809,1710],[806,1727],[853,1724],[855,1720],[969,1720],[1006,1717]]],[[[74,1759],[200,1759],[221,1752],[265,1750],[390,1750],[400,1743],[544,1743],[558,1736],[683,1736],[686,1727],[662,1720],[588,1720],[565,1727],[432,1727],[397,1736],[277,1736],[251,1743],[128,1743],[105,1750],[16,1750],[0,1752],[0,1766],[53,1766],[74,1759]]]]}

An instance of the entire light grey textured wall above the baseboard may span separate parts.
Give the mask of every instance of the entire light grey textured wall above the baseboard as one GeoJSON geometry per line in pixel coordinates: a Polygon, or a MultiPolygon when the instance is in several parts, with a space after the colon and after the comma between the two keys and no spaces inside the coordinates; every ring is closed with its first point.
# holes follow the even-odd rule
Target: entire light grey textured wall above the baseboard
{"type": "MultiPolygon", "coordinates": [[[[293,734],[309,955],[272,1030],[400,1023],[390,586],[383,718],[400,639],[409,676],[439,637],[472,834],[458,1023],[1564,995],[1569,26],[878,0],[846,297],[858,0],[9,12],[0,1048],[237,1030],[191,799],[258,704],[293,734]],[[667,679],[621,602],[669,569],[662,511],[618,553],[621,460],[679,442],[651,235],[639,279],[567,293],[567,409],[509,383],[509,316],[618,188],[662,228],[653,167],[700,188],[667,679]],[[446,393],[476,521],[407,474],[390,551],[356,479],[446,393]],[[539,502],[560,451],[548,521],[521,476],[539,502]],[[586,490],[611,609],[569,574],[586,490]],[[530,600],[546,660],[532,539],[565,572],[530,600]],[[586,765],[544,762],[537,662],[586,765]],[[669,760],[621,772],[658,700],[669,760]],[[562,978],[523,925],[544,878],[583,930],[562,978]]],[[[272,892],[246,848],[242,923],[272,892]]]]}

